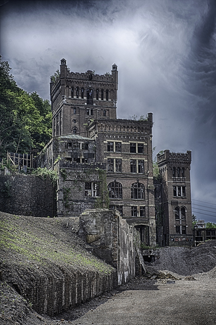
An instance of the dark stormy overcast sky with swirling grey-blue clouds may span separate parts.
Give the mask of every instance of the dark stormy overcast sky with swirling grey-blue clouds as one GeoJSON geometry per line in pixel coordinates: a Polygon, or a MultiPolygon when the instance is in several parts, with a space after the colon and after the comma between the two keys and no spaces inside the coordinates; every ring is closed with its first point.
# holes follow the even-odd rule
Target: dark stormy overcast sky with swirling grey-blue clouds
{"type": "MultiPolygon", "coordinates": [[[[152,112],[154,153],[191,150],[192,199],[216,204],[215,0],[1,3],[1,55],[21,88],[49,99],[62,58],[73,72],[115,62],[117,117],[152,112]]],[[[198,201],[214,209],[197,217],[216,222],[198,201]]]]}

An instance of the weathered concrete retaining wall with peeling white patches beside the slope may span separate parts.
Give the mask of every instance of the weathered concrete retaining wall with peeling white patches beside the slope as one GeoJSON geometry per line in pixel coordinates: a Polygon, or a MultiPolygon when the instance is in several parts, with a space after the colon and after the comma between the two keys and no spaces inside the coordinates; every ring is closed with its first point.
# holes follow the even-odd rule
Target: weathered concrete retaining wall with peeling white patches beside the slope
{"type": "Polygon", "coordinates": [[[79,236],[91,251],[117,269],[118,284],[135,276],[136,232],[116,210],[86,210],[80,215],[79,236]]]}

